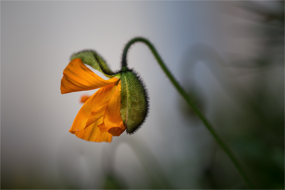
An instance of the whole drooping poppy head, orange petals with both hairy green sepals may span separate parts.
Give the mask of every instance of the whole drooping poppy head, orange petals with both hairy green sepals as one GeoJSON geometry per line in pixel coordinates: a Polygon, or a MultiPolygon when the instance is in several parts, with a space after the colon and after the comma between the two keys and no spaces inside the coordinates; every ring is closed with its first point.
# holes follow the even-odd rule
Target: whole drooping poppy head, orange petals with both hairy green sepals
{"type": "Polygon", "coordinates": [[[88,141],[111,142],[125,130],[135,133],[148,115],[148,95],[141,79],[132,70],[113,72],[95,51],[75,53],[63,71],[62,94],[99,88],[85,102],[69,130],[88,141]],[[104,80],[85,64],[104,73],[104,80]]]}

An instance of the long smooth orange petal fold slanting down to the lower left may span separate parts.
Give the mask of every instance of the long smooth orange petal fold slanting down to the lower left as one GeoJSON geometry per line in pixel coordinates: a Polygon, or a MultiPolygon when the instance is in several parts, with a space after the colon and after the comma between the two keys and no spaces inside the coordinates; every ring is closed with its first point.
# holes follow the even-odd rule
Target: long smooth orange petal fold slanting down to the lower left
{"type": "MultiPolygon", "coordinates": [[[[117,80],[116,77],[109,79],[109,81],[116,81],[116,80],[117,80]]],[[[108,104],[113,94],[114,94],[114,84],[98,89],[97,92],[95,92],[81,107],[81,109],[79,110],[78,114],[76,115],[73,121],[73,124],[69,132],[83,131],[86,127],[86,122],[89,119],[92,110],[94,110],[97,107],[100,107],[101,105],[108,104]]]]}

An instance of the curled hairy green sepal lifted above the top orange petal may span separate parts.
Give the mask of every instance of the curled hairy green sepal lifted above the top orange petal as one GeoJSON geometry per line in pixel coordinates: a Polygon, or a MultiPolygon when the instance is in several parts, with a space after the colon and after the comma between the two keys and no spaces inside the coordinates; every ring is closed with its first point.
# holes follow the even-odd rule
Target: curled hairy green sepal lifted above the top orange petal
{"type": "Polygon", "coordinates": [[[78,53],[74,53],[70,57],[70,60],[73,60],[75,58],[81,59],[84,64],[90,65],[94,69],[104,73],[107,77],[112,77],[116,74],[109,69],[109,66],[106,64],[105,60],[93,50],[84,50],[78,53]]]}

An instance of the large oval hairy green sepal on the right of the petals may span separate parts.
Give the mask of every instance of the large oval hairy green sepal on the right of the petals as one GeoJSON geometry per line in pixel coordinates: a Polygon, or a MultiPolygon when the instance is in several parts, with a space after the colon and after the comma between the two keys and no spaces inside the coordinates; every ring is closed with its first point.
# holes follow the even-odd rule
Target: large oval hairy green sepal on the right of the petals
{"type": "Polygon", "coordinates": [[[121,72],[121,117],[127,133],[135,133],[148,115],[148,96],[139,77],[132,71],[121,72]]]}

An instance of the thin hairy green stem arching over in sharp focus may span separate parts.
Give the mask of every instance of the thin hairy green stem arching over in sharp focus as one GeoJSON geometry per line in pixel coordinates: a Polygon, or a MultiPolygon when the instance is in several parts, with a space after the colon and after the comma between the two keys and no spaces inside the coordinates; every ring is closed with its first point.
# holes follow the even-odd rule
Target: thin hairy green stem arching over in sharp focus
{"type": "Polygon", "coordinates": [[[154,46],[145,38],[133,38],[130,40],[127,45],[125,46],[125,49],[123,51],[123,57],[122,57],[122,71],[127,70],[127,52],[129,50],[129,47],[135,43],[135,42],[144,42],[152,51],[154,57],[156,58],[158,64],[161,66],[162,70],[166,73],[172,84],[176,87],[178,92],[184,97],[188,105],[192,108],[192,110],[198,115],[198,117],[201,119],[201,121],[205,124],[207,129],[210,131],[214,139],[216,140],[217,144],[225,151],[225,153],[229,156],[241,176],[243,177],[246,185],[248,188],[253,189],[253,185],[249,181],[245,170],[237,157],[233,154],[233,152],[230,150],[230,148],[221,140],[221,138],[218,136],[217,132],[213,128],[212,124],[209,122],[209,120],[203,115],[203,113],[196,107],[196,105],[192,102],[192,100],[188,97],[185,90],[179,85],[179,83],[176,81],[176,79],[172,76],[160,56],[158,55],[156,49],[154,46]]]}

